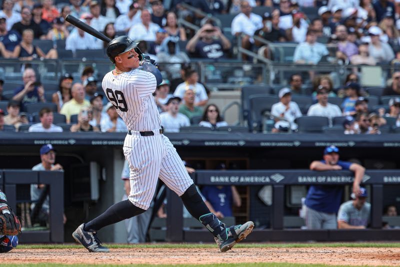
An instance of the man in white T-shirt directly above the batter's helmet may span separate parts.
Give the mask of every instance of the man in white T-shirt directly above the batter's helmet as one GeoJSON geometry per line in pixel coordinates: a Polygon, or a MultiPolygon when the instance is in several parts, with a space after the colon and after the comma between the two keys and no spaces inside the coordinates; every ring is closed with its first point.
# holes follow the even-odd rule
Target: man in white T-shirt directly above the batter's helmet
{"type": "Polygon", "coordinates": [[[158,31],[159,26],[151,22],[151,15],[148,10],[141,11],[141,23],[133,25],[128,33],[132,40],[155,41],[155,33],[158,31]]]}

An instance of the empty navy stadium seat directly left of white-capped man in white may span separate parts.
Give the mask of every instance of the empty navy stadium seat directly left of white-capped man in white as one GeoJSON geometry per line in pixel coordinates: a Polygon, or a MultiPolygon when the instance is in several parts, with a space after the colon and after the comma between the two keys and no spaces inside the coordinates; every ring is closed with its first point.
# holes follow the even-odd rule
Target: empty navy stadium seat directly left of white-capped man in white
{"type": "Polygon", "coordinates": [[[263,113],[270,111],[273,104],[279,102],[277,96],[268,94],[255,94],[249,97],[249,119],[248,126],[252,130],[257,128],[260,130],[262,125],[263,113]]]}

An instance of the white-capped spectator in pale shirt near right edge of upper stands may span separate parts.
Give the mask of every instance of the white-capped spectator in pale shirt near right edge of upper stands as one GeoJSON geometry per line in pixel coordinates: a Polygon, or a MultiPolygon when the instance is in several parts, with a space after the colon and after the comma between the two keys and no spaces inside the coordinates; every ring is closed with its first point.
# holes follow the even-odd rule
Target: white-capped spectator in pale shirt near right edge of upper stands
{"type": "Polygon", "coordinates": [[[371,26],[368,29],[371,42],[368,47],[369,55],[375,59],[377,63],[388,63],[394,59],[394,53],[391,47],[380,41],[379,36],[383,34],[377,26],[371,26]]]}

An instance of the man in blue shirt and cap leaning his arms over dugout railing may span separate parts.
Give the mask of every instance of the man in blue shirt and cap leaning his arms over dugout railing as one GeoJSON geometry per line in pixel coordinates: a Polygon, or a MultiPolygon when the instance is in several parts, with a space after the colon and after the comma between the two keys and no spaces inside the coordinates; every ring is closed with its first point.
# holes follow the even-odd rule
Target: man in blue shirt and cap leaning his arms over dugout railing
{"type": "MultiPolygon", "coordinates": [[[[328,146],[323,152],[323,160],[311,162],[309,168],[315,171],[350,170],[354,172],[353,193],[360,195],[359,184],[365,168],[357,163],[339,160],[339,149],[328,146]]],[[[342,186],[312,185],[305,198],[305,224],[307,229],[336,229],[336,213],[339,209],[342,186]]]]}

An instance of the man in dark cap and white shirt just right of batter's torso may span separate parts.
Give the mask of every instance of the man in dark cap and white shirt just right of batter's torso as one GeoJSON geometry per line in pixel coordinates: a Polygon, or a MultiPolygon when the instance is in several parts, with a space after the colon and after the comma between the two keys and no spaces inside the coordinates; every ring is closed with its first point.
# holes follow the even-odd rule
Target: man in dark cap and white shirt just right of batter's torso
{"type": "Polygon", "coordinates": [[[159,115],[165,132],[177,133],[180,127],[190,126],[189,118],[179,113],[180,97],[171,97],[166,102],[166,112],[159,115]]]}

